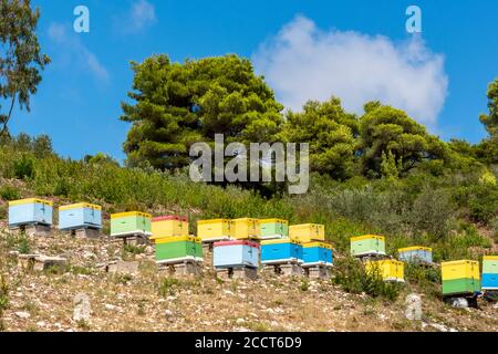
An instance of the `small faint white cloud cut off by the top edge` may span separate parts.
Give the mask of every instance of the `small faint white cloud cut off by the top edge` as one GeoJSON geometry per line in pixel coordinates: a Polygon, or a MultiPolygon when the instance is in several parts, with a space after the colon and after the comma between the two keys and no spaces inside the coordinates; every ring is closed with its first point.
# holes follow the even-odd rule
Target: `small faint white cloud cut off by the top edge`
{"type": "Polygon", "coordinates": [[[146,0],[132,3],[129,10],[115,19],[122,33],[129,34],[142,31],[156,22],[156,9],[146,0]]]}

